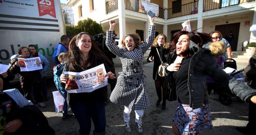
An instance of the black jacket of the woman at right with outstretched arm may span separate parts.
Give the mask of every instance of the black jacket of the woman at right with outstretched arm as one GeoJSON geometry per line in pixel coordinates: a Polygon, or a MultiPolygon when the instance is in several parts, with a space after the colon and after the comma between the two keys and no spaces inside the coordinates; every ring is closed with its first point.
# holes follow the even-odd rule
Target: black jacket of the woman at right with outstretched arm
{"type": "MultiPolygon", "coordinates": [[[[244,101],[249,101],[253,95],[256,95],[256,90],[238,82],[235,78],[224,72],[216,63],[215,57],[210,54],[210,50],[202,49],[191,41],[190,51],[193,53],[188,70],[189,94],[187,96],[190,99],[188,103],[190,107],[199,108],[202,106],[202,103],[209,102],[206,83],[208,76],[218,85],[221,85],[221,88],[231,90],[233,94],[239,96],[244,101]]],[[[175,60],[174,57],[172,60],[175,60]]],[[[168,79],[172,79],[170,76],[173,76],[174,72],[169,72],[167,68],[165,72],[166,76],[169,77],[168,79]]],[[[169,82],[173,81],[169,80],[169,82]]],[[[172,83],[172,85],[175,85],[175,83],[172,83]]]]}

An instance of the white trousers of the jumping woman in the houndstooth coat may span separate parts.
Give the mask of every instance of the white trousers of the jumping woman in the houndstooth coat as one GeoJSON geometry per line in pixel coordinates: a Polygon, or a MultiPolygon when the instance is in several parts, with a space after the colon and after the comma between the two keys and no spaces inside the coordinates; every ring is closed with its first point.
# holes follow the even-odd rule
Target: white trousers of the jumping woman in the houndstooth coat
{"type": "MultiPolygon", "coordinates": [[[[130,121],[130,113],[131,113],[131,108],[128,106],[124,106],[124,121],[129,122],[130,121]]],[[[140,123],[142,121],[142,117],[144,114],[144,109],[141,110],[134,110],[135,111],[135,122],[140,123]]]]}

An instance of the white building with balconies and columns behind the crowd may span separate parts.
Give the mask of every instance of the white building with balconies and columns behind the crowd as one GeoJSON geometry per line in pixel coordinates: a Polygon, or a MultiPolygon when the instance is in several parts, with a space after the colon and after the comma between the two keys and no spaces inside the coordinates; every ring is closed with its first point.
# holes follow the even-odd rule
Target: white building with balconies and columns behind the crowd
{"type": "MultiPolygon", "coordinates": [[[[242,51],[243,42],[256,42],[255,0],[147,0],[159,5],[155,18],[156,34],[163,33],[172,41],[182,23],[190,20],[192,30],[210,33],[219,30],[223,37],[234,34],[232,51],[242,51]],[[251,28],[251,31],[250,31],[251,28]]],[[[148,17],[138,9],[139,0],[68,0],[73,9],[74,24],[91,18],[109,29],[109,20],[115,19],[115,32],[119,37],[138,33],[142,40],[147,36],[148,17]]]]}

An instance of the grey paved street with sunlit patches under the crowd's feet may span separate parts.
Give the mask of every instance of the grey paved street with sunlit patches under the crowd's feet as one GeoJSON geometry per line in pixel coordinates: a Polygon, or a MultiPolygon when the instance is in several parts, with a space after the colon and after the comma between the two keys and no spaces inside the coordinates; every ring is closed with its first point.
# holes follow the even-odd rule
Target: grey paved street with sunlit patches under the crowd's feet
{"type": "MultiPolygon", "coordinates": [[[[115,63],[119,63],[119,59],[114,60],[115,63]]],[[[172,115],[176,108],[176,101],[166,103],[166,109],[161,110],[161,107],[156,107],[155,102],[157,96],[155,93],[155,84],[152,79],[153,67],[150,64],[144,67],[144,71],[147,77],[147,90],[149,98],[151,100],[151,107],[146,109],[143,117],[143,134],[144,135],[174,135],[172,133],[172,115]]],[[[244,68],[244,64],[238,64],[238,69],[244,68]]],[[[120,64],[116,64],[116,72],[120,72],[120,64]]],[[[46,108],[40,108],[47,117],[50,126],[55,129],[56,135],[78,135],[79,125],[74,117],[62,121],[61,113],[55,114],[54,102],[51,91],[55,90],[52,80],[47,80],[49,101],[46,102],[46,108]]],[[[110,90],[109,90],[110,96],[110,90]]],[[[233,100],[233,103],[229,106],[222,105],[219,102],[217,94],[211,94],[210,96],[210,108],[213,117],[213,129],[204,130],[201,135],[242,135],[235,127],[246,126],[247,124],[247,112],[248,104],[233,100]]],[[[138,135],[136,125],[134,122],[135,113],[132,111],[131,124],[132,132],[127,133],[123,124],[123,107],[115,105],[111,102],[106,106],[106,135],[138,135]]],[[[70,112],[72,113],[72,112],[70,112]]],[[[93,126],[91,127],[91,131],[93,126]]],[[[91,133],[92,135],[92,133],[91,133]]]]}

